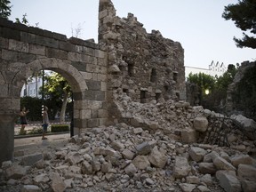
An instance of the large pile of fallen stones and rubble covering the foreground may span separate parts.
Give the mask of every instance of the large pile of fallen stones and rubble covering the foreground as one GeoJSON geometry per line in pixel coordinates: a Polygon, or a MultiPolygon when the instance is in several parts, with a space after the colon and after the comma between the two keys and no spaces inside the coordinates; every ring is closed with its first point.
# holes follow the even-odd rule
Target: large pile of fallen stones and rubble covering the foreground
{"type": "Polygon", "coordinates": [[[116,105],[130,125],[92,128],[63,148],[4,162],[0,189],[256,191],[255,141],[236,129],[225,137],[228,146],[204,143],[217,126],[210,116],[220,115],[172,100],[141,104],[123,97],[116,105]]]}

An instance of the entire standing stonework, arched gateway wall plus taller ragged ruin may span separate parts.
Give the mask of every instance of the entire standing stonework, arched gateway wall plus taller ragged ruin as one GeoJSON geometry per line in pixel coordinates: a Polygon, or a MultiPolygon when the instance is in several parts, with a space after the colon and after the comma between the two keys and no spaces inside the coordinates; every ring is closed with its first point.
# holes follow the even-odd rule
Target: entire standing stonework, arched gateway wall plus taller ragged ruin
{"type": "Polygon", "coordinates": [[[1,19],[0,162],[12,159],[22,85],[43,69],[60,73],[71,85],[75,134],[118,122],[118,92],[140,103],[186,98],[180,43],[157,30],[148,34],[132,13],[117,17],[110,0],[100,0],[99,44],[1,19]]]}

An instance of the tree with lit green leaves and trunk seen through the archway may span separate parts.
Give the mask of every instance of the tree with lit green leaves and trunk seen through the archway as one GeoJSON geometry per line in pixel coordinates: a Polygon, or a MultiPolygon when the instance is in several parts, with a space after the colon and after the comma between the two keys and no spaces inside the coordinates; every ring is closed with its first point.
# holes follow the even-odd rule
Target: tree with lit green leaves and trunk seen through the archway
{"type": "Polygon", "coordinates": [[[48,99],[62,103],[60,110],[60,123],[65,121],[65,113],[68,104],[68,98],[71,96],[71,87],[68,81],[60,74],[52,72],[50,76],[45,76],[44,95],[48,99]]]}

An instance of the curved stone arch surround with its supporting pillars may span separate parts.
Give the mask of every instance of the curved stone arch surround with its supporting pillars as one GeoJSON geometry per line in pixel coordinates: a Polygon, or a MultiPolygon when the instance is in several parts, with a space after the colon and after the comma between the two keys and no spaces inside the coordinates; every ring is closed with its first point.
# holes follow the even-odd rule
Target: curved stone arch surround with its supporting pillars
{"type": "Polygon", "coordinates": [[[85,92],[88,90],[83,76],[71,65],[71,61],[44,58],[34,60],[28,64],[15,62],[5,65],[6,70],[1,71],[0,83],[3,85],[4,93],[0,93],[0,163],[13,159],[14,150],[14,119],[20,111],[20,91],[25,80],[34,72],[49,69],[60,73],[70,84],[74,94],[74,133],[80,134],[81,129],[86,128],[83,121],[85,92]]]}

